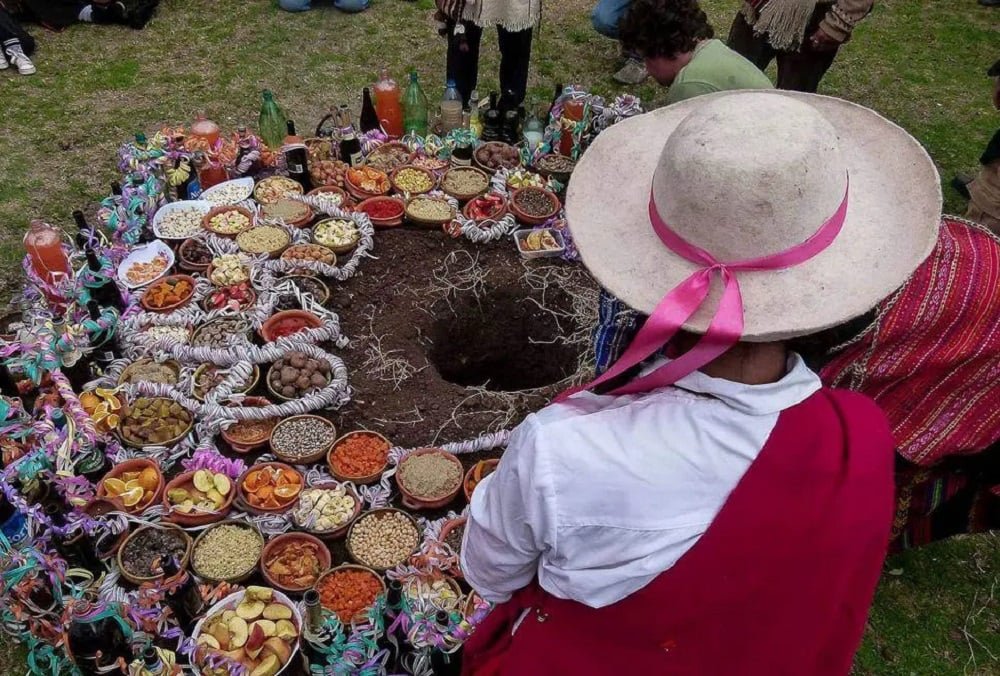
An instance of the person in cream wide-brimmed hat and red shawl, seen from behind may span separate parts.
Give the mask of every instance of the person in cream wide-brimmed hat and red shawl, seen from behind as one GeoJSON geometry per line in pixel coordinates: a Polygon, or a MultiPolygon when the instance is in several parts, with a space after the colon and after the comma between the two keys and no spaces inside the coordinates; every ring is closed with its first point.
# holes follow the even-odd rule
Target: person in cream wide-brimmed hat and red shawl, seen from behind
{"type": "Polygon", "coordinates": [[[785,341],[864,314],[927,257],[930,158],[845,101],[720,93],[602,133],[566,209],[586,266],[651,318],[477,488],[462,568],[499,605],[466,673],[846,674],[893,442],[785,341]]]}

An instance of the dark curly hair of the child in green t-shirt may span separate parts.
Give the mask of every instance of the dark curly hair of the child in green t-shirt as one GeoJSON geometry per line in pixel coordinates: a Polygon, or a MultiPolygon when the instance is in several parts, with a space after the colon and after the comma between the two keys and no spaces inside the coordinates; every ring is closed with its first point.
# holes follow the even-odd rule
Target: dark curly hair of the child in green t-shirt
{"type": "Polygon", "coordinates": [[[622,47],[643,58],[670,59],[715,35],[696,0],[635,0],[618,30],[622,47]]]}

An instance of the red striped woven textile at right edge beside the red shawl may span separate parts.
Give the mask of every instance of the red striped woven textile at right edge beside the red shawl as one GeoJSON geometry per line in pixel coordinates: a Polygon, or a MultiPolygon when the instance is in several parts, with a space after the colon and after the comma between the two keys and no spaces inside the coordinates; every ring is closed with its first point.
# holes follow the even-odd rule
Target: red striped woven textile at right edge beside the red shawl
{"type": "Polygon", "coordinates": [[[878,402],[918,465],[1000,439],[1000,239],[945,217],[931,256],[821,376],[878,402]]]}

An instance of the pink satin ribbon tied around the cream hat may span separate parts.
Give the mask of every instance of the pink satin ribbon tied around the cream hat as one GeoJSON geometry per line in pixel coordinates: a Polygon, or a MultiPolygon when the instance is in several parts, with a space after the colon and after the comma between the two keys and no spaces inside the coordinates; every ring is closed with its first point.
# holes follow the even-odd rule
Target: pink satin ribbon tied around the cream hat
{"type": "Polygon", "coordinates": [[[564,401],[577,392],[593,389],[601,383],[617,378],[662,349],[708,298],[712,279],[716,274],[724,284],[722,298],[701,340],[677,359],[652,373],[629,381],[611,394],[636,394],[673,385],[726,352],[743,336],[743,296],[740,294],[740,282],[734,273],[783,270],[804,263],[824,251],[833,243],[844,226],[849,190],[850,177],[847,179],[844,198],[840,201],[837,211],[806,241],[776,254],[731,263],[717,261],[712,254],[674,232],[660,216],[656,200],[650,191],[649,220],[653,230],[668,249],[702,267],[664,296],[618,361],[591,382],[562,392],[556,397],[556,401],[564,401]]]}

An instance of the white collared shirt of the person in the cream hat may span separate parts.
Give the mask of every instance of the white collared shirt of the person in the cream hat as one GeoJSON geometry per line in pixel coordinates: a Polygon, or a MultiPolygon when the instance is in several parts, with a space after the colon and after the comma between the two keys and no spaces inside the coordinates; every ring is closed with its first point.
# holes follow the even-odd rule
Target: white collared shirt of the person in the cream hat
{"type": "Polygon", "coordinates": [[[473,494],[465,579],[500,602],[537,576],[550,594],[594,608],[641,589],[706,531],[778,414],[819,390],[798,355],[788,366],[766,385],[696,372],[528,416],[473,494]]]}

